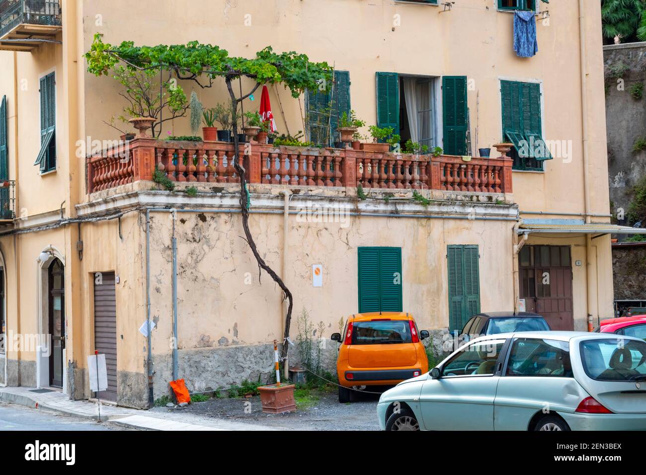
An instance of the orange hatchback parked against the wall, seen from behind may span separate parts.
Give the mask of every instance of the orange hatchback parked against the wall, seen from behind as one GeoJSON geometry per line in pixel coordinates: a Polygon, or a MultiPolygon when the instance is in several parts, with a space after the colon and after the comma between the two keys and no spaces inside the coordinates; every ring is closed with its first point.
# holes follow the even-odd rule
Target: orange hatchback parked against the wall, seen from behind
{"type": "Polygon", "coordinates": [[[344,331],[331,339],[341,343],[337,358],[339,402],[351,401],[353,386],[393,386],[428,371],[422,340],[413,315],[400,311],[357,313],[344,331]]]}

